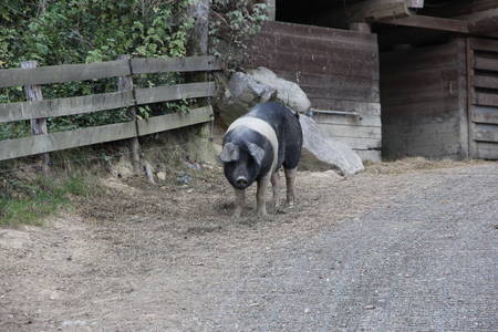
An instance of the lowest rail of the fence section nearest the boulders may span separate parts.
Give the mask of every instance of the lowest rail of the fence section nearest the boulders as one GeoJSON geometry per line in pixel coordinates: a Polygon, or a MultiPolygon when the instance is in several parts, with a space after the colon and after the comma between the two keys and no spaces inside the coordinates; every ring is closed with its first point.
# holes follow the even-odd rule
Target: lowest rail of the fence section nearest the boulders
{"type": "Polygon", "coordinates": [[[211,106],[190,110],[186,114],[173,113],[138,121],[139,136],[176,129],[212,121],[211,106]]]}

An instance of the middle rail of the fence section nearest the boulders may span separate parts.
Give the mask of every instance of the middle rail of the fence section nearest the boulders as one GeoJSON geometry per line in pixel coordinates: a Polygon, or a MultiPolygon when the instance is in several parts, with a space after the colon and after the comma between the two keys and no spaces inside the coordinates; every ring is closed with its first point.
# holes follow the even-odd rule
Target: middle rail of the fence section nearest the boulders
{"type": "Polygon", "coordinates": [[[187,83],[170,86],[136,89],[135,98],[137,105],[142,105],[184,98],[208,97],[214,96],[215,92],[215,82],[187,83]]]}

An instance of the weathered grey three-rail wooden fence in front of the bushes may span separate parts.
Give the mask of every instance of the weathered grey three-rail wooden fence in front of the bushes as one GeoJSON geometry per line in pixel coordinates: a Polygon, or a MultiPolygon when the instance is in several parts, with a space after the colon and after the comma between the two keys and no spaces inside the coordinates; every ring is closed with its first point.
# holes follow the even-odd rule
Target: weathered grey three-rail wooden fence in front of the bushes
{"type": "MultiPolygon", "coordinates": [[[[31,121],[33,135],[0,142],[0,160],[86,146],[169,131],[210,122],[210,105],[190,110],[186,114],[166,114],[138,120],[134,107],[158,102],[209,97],[215,94],[214,82],[196,82],[135,89],[133,75],[165,72],[203,72],[221,69],[214,56],[181,59],[132,59],[89,64],[51,65],[37,68],[34,62],[23,63],[21,69],[0,70],[0,89],[24,86],[27,102],[0,104],[0,123],[31,121]],[[118,91],[85,96],[43,100],[42,84],[66,83],[95,79],[118,77],[118,91]],[[129,107],[131,121],[68,132],[49,133],[46,118],[87,114],[98,111],[129,107]]],[[[46,155],[45,155],[46,156],[46,155]]]]}

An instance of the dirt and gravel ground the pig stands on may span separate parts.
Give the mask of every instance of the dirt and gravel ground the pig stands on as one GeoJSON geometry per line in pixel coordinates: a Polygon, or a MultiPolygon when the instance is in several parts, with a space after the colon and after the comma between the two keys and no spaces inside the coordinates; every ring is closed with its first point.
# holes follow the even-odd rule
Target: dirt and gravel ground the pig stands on
{"type": "Polygon", "coordinates": [[[0,229],[0,331],[498,331],[497,163],[301,172],[266,219],[209,168],[0,229]]]}

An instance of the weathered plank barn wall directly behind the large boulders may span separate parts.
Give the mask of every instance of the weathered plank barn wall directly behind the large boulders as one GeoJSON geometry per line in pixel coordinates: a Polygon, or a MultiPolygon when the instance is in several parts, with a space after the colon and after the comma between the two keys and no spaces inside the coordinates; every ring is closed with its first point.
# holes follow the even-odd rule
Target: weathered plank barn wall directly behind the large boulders
{"type": "Polygon", "coordinates": [[[266,66],[303,89],[321,131],[364,159],[381,157],[378,51],[374,34],[267,22],[249,51],[249,66],[266,66]],[[357,116],[352,116],[355,114],[357,116]],[[350,115],[347,115],[350,114],[350,115]]]}

